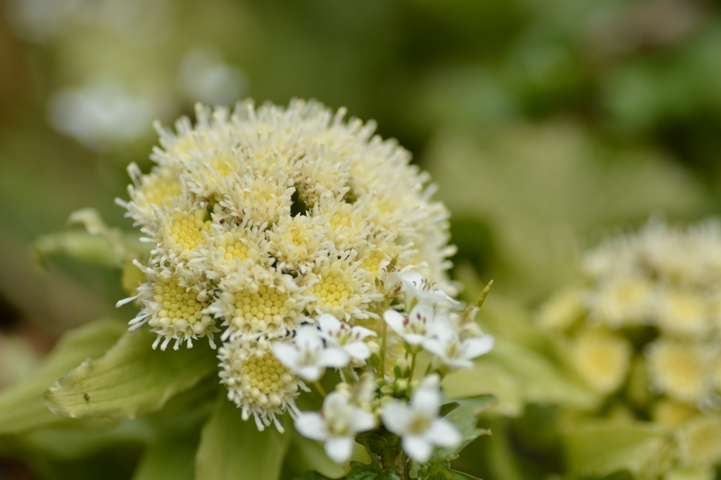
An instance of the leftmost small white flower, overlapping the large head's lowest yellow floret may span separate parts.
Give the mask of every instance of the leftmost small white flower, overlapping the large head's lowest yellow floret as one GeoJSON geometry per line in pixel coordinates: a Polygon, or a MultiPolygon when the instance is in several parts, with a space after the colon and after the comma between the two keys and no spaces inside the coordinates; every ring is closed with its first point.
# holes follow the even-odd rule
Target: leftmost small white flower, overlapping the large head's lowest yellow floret
{"type": "Polygon", "coordinates": [[[299,328],[292,344],[273,344],[273,354],[288,370],[309,382],[321,378],[325,367],[342,368],[350,361],[342,349],[326,349],[318,329],[311,326],[299,328]]]}

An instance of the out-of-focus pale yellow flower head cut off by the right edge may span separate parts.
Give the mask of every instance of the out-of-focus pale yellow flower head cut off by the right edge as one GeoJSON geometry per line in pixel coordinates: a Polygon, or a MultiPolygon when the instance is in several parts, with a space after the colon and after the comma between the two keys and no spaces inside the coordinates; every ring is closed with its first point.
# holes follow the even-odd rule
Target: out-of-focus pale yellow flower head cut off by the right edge
{"type": "Polygon", "coordinates": [[[703,427],[721,422],[721,224],[652,220],[585,253],[580,270],[541,325],[598,393],[678,427],[681,463],[721,463],[721,437],[703,427]]]}

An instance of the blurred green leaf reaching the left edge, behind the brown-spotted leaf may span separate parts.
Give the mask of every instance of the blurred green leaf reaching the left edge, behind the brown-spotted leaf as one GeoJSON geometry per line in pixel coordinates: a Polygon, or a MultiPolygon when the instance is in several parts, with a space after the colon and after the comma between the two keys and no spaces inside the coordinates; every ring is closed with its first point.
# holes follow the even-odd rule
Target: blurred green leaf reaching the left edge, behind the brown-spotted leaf
{"type": "Polygon", "coordinates": [[[43,367],[0,394],[0,435],[65,422],[45,408],[41,393],[80,362],[105,354],[126,330],[124,323],[106,319],[66,333],[43,367]]]}

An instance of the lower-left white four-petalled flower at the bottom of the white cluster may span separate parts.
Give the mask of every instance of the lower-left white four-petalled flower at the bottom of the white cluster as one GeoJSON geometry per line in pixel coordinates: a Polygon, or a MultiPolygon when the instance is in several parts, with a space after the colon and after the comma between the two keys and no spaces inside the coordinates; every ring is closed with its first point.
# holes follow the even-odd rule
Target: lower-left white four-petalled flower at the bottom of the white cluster
{"type": "Polygon", "coordinates": [[[304,411],[296,419],[304,437],[325,442],[325,453],[337,463],[353,455],[355,434],[376,427],[376,417],[350,401],[347,390],[335,390],[323,401],[323,412],[304,411]]]}

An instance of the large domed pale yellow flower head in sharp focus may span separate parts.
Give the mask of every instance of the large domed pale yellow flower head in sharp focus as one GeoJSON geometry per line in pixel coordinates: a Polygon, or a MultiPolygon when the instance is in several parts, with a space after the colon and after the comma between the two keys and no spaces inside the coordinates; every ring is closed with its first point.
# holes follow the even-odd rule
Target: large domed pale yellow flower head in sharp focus
{"type": "Polygon", "coordinates": [[[355,324],[382,321],[389,264],[452,292],[448,212],[428,175],[344,114],[301,100],[199,106],[195,126],[157,127],[156,165],[132,164],[130,201],[118,201],[154,247],[136,262],[146,282],[127,300],[141,306],[131,329],[147,324],[163,350],[214,347],[221,332],[221,382],[260,429],[295,413],[298,375],[363,365],[371,332],[355,324]]]}

